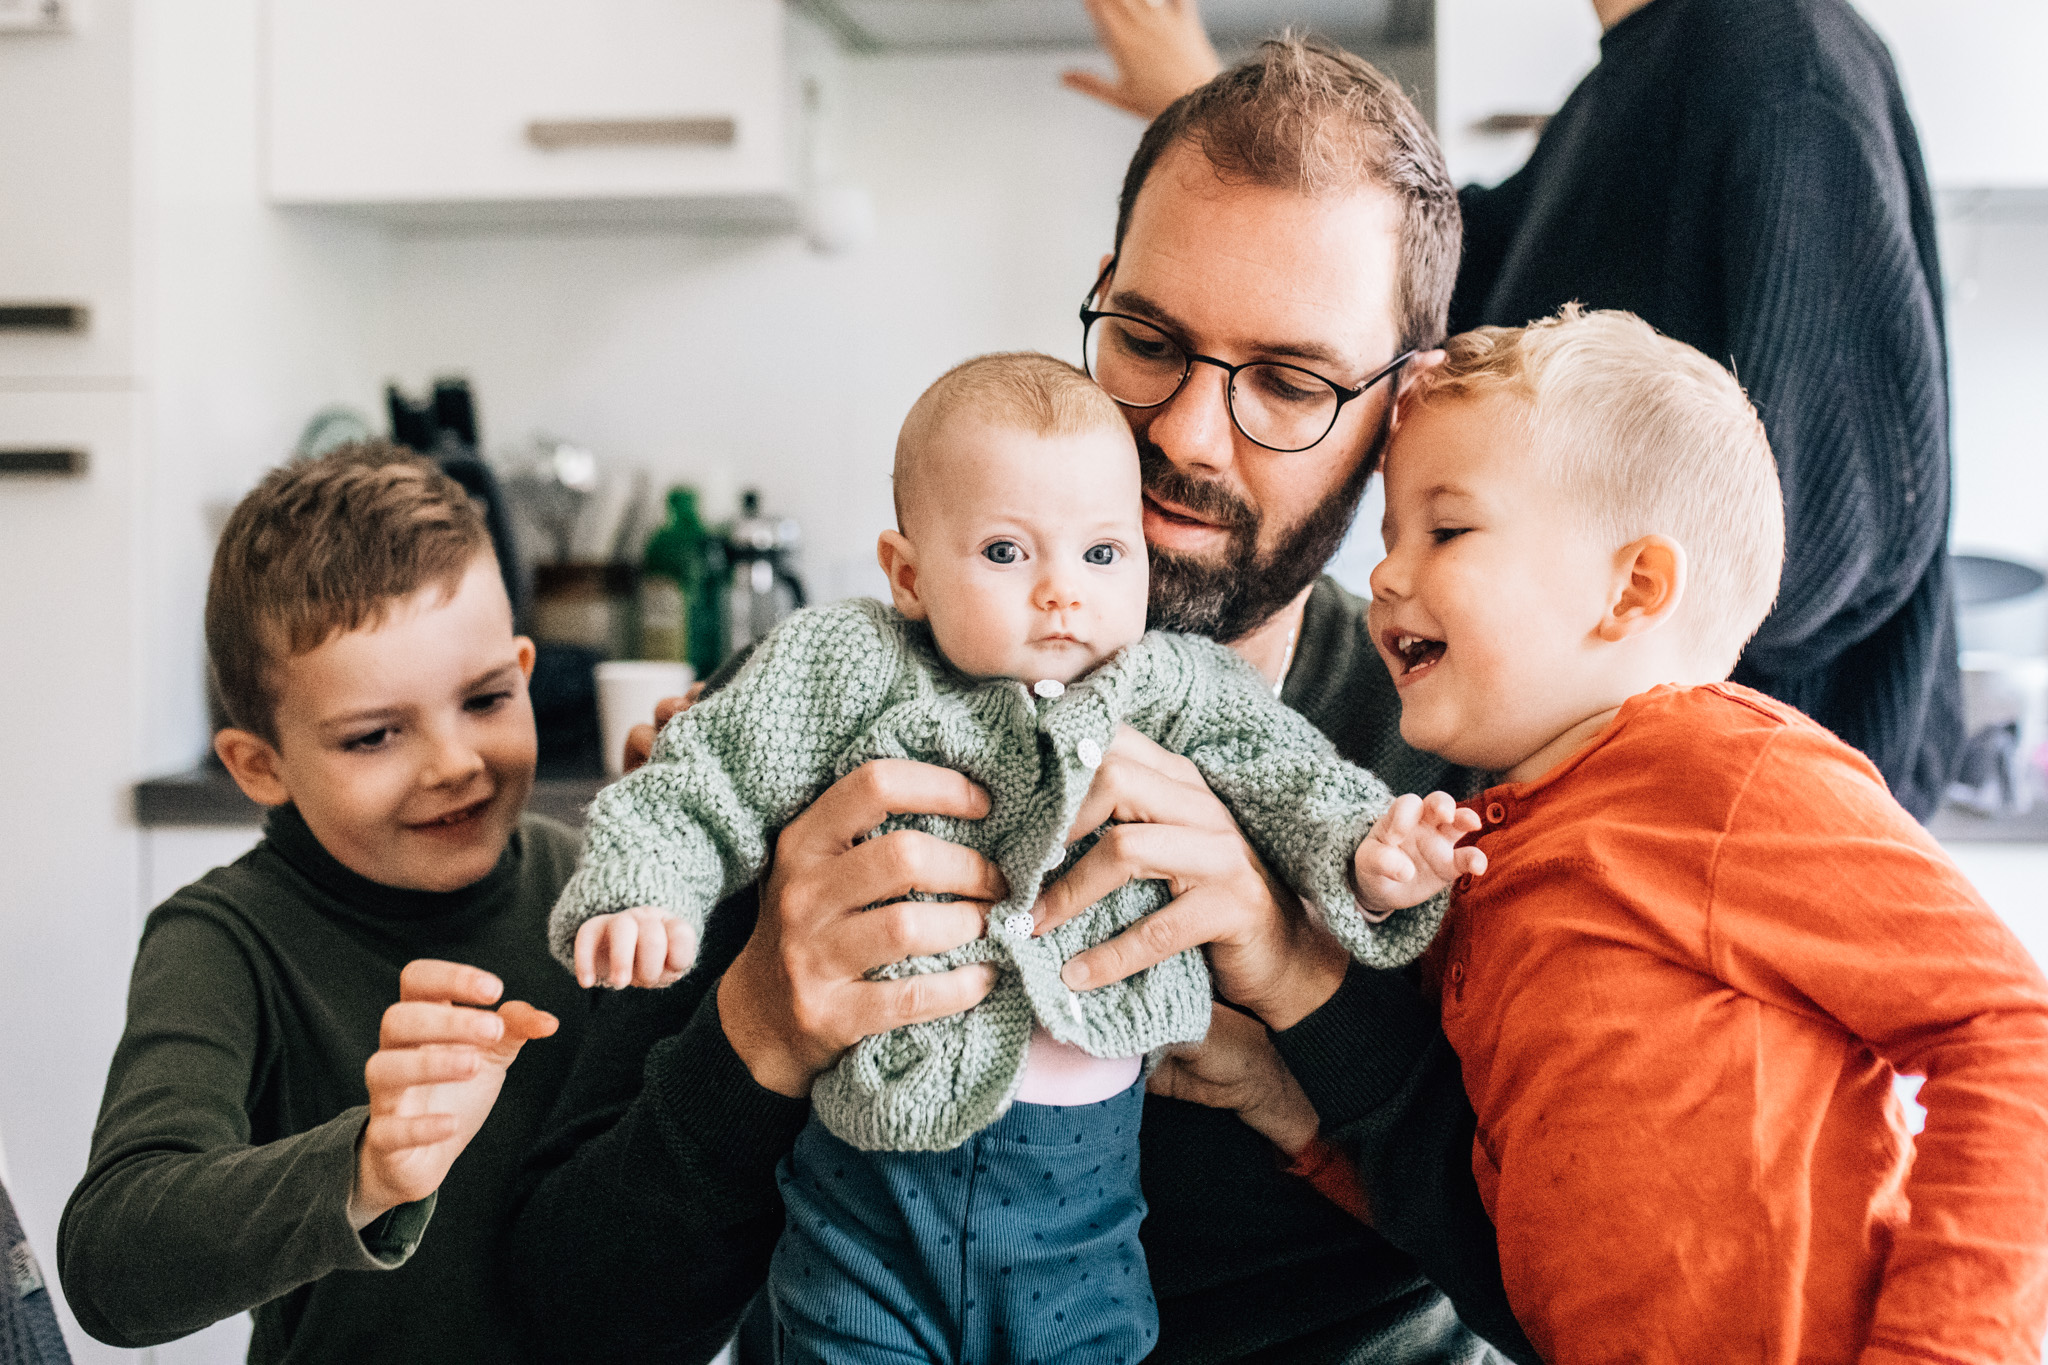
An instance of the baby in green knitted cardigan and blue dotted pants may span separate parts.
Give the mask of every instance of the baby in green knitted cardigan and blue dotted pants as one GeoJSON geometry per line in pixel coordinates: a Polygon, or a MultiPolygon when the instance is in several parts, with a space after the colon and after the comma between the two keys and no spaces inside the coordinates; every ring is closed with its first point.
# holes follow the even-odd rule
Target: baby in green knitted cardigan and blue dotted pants
{"type": "Polygon", "coordinates": [[[899,528],[879,546],[895,608],[801,612],[678,716],[592,806],[551,941],[586,974],[631,960],[659,984],[842,774],[905,757],[979,782],[985,819],[897,817],[877,835],[981,849],[1010,892],[985,937],[885,974],[993,962],[997,984],[963,1015],[860,1042],[813,1087],[768,1285],[784,1359],[1137,1361],[1157,1332],[1139,1074],[1202,1038],[1208,972],[1186,952],[1100,990],[1061,982],[1071,956],[1159,909],[1161,882],[1042,931],[1032,919],[1096,837],[1073,827],[1120,726],[1192,759],[1372,966],[1421,954],[1432,892],[1483,868],[1452,849],[1479,823],[1444,794],[1395,806],[1233,653],[1145,632],[1137,450],[1073,366],[1004,354],[944,375],[903,424],[895,475],[899,528]]]}

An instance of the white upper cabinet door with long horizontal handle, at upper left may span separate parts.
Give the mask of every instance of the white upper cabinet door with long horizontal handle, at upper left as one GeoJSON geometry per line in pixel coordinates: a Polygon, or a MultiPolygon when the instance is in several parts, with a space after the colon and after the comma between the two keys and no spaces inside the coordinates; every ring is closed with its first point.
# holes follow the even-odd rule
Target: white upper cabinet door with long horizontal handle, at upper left
{"type": "Polygon", "coordinates": [[[285,205],[788,186],[782,0],[270,0],[285,205]]]}

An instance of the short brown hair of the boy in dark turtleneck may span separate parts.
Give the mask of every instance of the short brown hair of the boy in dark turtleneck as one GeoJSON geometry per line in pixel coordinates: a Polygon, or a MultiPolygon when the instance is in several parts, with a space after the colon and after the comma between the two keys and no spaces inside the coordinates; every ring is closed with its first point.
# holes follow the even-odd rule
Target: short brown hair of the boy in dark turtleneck
{"type": "Polygon", "coordinates": [[[383,440],[272,469],[227,518],[207,583],[207,663],[227,718],[276,743],[274,665],[453,593],[492,536],[469,493],[383,440]]]}

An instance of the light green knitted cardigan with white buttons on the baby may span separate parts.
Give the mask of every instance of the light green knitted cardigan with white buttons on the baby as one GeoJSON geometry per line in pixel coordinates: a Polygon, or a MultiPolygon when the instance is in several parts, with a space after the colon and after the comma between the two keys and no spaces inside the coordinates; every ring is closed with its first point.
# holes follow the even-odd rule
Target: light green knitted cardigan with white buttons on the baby
{"type": "Polygon", "coordinates": [[[1149,632],[1047,692],[1057,694],[954,671],[930,628],[881,602],[797,612],[731,684],[662,731],[641,769],[598,794],[549,945],[571,962],[584,921],[635,905],[662,907],[702,935],[711,907],[760,874],[774,833],[838,778],[883,757],[963,772],[989,792],[985,819],[905,814],[877,833],[924,829],[979,849],[1010,894],[989,911],[985,937],[877,976],[995,962],[997,984],[963,1015],[862,1040],[811,1091],[825,1128],[858,1148],[958,1146],[1010,1107],[1032,1019],[1104,1058],[1198,1042],[1208,1029],[1200,952],[1085,993],[1059,978],[1067,958],[1165,905],[1165,882],[1130,882],[1065,925],[1030,933],[1049,874],[1096,839],[1065,845],[1120,724],[1192,759],[1253,847],[1360,962],[1401,966],[1430,943],[1444,896],[1372,923],[1352,892],[1352,853],[1389,806],[1386,786],[1339,759],[1231,651],[1149,632]]]}

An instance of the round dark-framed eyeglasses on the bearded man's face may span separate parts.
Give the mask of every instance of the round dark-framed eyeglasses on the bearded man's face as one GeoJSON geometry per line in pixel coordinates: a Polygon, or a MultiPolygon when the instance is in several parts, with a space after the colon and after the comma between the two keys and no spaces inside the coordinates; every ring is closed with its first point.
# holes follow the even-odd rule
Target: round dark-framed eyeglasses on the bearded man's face
{"type": "Polygon", "coordinates": [[[1116,270],[1114,260],[1081,301],[1081,364],[1087,366],[1090,379],[1124,407],[1159,407],[1180,393],[1196,364],[1212,364],[1227,379],[1231,422],[1245,440],[1268,450],[1292,452],[1317,444],[1337,426],[1337,413],[1346,403],[1415,356],[1413,350],[1403,350],[1358,387],[1339,385],[1280,360],[1231,364],[1188,350],[1143,317],[1092,309],[1112,270],[1116,270]]]}

